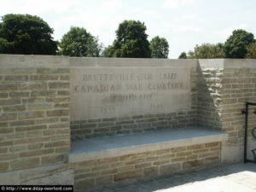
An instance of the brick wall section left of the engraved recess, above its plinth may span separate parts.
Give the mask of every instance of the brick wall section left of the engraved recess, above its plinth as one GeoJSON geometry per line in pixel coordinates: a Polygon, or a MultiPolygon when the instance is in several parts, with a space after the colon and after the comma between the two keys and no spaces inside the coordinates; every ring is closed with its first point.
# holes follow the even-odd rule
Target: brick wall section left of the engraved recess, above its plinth
{"type": "Polygon", "coordinates": [[[1,55],[0,66],[0,172],[64,162],[68,58],[1,55]]]}

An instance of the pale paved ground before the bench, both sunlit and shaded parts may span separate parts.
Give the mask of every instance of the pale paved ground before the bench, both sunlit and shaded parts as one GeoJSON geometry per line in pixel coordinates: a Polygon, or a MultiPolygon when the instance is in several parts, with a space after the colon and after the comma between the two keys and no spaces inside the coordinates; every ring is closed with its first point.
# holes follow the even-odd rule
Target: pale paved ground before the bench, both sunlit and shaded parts
{"type": "Polygon", "coordinates": [[[256,164],[221,166],[96,192],[256,192],[256,164]]]}

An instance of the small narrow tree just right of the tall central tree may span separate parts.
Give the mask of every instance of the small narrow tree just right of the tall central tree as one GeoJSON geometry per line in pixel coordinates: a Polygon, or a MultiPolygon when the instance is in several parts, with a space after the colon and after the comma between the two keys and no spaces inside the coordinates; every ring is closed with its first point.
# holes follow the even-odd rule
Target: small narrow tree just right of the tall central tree
{"type": "Polygon", "coordinates": [[[166,38],[156,36],[150,41],[152,58],[167,58],[169,54],[169,44],[166,38]]]}

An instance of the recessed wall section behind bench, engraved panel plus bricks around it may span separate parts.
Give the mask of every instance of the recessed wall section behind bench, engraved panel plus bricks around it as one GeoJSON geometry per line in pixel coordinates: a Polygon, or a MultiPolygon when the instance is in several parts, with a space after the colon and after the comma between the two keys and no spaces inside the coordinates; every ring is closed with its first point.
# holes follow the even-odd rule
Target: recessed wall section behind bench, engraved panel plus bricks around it
{"type": "Polygon", "coordinates": [[[195,123],[196,61],[71,60],[73,138],[195,123]]]}

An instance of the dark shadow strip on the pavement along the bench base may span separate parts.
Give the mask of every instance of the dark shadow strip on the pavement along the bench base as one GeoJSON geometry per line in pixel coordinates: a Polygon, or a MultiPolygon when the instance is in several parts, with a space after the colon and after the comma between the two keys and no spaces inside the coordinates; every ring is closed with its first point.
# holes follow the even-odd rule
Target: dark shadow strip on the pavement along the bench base
{"type": "Polygon", "coordinates": [[[218,166],[211,169],[175,174],[167,177],[154,178],[148,181],[139,181],[126,185],[112,186],[94,192],[150,192],[162,189],[171,189],[183,184],[205,181],[215,177],[224,177],[238,172],[256,172],[256,164],[236,164],[218,166]]]}

